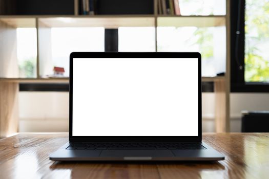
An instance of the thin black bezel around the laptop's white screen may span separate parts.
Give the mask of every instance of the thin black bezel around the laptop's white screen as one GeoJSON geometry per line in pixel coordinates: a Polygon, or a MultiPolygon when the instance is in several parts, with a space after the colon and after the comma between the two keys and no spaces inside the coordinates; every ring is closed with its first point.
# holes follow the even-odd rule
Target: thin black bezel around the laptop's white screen
{"type": "MultiPolygon", "coordinates": [[[[190,68],[191,69],[191,68],[190,68]]],[[[188,87],[188,86],[186,86],[188,87]]],[[[201,54],[198,52],[72,52],[69,74],[70,142],[201,142],[201,54]],[[197,58],[198,59],[198,136],[73,136],[73,59],[74,58],[197,58]]],[[[173,125],[173,124],[171,124],[173,125]]]]}

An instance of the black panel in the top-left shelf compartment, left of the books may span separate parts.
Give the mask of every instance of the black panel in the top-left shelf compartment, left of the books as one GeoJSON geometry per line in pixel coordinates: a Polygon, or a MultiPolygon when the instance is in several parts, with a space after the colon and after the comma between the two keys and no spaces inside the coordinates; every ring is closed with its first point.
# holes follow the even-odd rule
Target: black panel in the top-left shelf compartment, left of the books
{"type": "Polygon", "coordinates": [[[74,15],[74,0],[0,0],[1,15],[74,15]]]}

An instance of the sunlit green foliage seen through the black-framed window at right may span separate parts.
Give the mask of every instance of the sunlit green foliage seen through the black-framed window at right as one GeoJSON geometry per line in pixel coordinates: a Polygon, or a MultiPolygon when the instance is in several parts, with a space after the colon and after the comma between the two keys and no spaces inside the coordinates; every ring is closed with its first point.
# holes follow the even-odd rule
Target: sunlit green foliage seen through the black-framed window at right
{"type": "Polygon", "coordinates": [[[269,1],[245,1],[246,82],[269,82],[269,1]]]}

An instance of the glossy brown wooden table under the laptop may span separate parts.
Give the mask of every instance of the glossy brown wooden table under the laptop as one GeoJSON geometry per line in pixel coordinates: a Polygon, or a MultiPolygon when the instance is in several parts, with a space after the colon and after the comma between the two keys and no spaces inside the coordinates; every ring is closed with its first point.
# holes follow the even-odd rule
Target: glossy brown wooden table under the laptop
{"type": "Polygon", "coordinates": [[[67,133],[19,133],[0,140],[0,178],[269,178],[269,133],[217,133],[203,141],[220,162],[59,163],[49,153],[67,133]]]}

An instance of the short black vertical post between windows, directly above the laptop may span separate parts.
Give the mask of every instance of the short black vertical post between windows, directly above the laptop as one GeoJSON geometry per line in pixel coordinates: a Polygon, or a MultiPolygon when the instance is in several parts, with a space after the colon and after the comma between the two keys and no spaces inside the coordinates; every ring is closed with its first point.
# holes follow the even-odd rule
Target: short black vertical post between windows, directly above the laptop
{"type": "Polygon", "coordinates": [[[105,29],[105,52],[118,52],[118,29],[105,29]]]}

